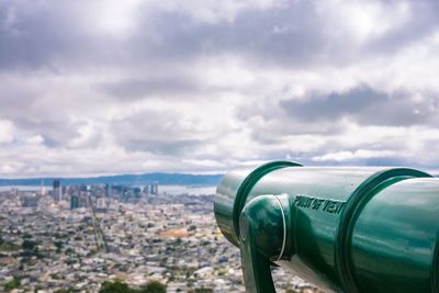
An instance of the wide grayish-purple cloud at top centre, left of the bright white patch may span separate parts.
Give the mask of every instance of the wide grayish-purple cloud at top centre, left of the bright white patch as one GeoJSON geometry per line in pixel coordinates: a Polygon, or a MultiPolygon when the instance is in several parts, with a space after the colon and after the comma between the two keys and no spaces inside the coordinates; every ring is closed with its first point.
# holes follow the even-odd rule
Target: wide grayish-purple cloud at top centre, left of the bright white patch
{"type": "Polygon", "coordinates": [[[145,42],[140,45],[164,57],[234,53],[258,61],[304,64],[318,59],[325,41],[323,24],[311,1],[288,2],[264,11],[245,10],[232,23],[200,23],[188,14],[169,12],[147,16],[145,26],[158,32],[160,42],[151,42],[146,34],[145,38],[140,36],[145,42]],[[150,22],[149,18],[156,21],[150,22]],[[263,59],[259,58],[261,55],[263,59]]]}

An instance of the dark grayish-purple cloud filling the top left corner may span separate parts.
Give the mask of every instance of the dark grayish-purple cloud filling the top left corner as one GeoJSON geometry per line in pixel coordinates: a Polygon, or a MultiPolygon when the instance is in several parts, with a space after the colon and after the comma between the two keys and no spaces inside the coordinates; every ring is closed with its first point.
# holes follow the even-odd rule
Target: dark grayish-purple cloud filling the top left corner
{"type": "Polygon", "coordinates": [[[117,64],[122,44],[93,32],[95,24],[85,18],[93,9],[82,1],[2,1],[0,71],[45,69],[59,75],[117,64]]]}

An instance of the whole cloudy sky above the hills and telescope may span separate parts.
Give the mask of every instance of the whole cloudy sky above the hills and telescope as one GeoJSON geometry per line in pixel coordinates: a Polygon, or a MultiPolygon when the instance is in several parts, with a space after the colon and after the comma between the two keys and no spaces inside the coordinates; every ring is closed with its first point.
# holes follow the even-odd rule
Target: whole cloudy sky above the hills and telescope
{"type": "Polygon", "coordinates": [[[1,0],[0,177],[439,169],[439,2],[1,0]]]}

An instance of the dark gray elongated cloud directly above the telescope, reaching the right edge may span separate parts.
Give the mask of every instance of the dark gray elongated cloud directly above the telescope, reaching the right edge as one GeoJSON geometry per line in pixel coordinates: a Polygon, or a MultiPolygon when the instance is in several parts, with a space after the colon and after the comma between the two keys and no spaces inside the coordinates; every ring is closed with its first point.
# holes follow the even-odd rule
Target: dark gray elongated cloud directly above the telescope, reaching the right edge
{"type": "Polygon", "coordinates": [[[348,117],[363,125],[409,126],[437,121],[435,99],[414,101],[407,93],[386,94],[369,87],[281,102],[293,120],[336,122],[348,117]]]}

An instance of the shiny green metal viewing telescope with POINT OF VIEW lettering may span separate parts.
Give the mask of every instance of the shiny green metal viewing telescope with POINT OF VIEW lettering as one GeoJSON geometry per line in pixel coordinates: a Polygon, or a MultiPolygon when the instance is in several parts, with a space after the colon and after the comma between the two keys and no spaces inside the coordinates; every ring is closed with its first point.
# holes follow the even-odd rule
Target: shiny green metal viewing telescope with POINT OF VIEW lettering
{"type": "Polygon", "coordinates": [[[439,292],[439,178],[290,161],[228,172],[215,196],[247,292],[280,266],[328,292],[439,292]]]}

